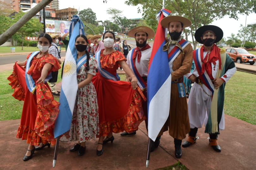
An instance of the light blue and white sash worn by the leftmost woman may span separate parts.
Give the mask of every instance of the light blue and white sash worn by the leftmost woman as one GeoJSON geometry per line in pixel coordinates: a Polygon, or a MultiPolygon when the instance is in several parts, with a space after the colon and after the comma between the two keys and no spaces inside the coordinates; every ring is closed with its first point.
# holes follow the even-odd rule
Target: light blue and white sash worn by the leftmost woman
{"type": "MultiPolygon", "coordinates": [[[[27,83],[27,88],[30,92],[34,93],[35,90],[35,82],[32,78],[31,75],[27,74],[27,71],[30,68],[30,62],[32,61],[32,59],[34,58],[35,55],[37,55],[40,51],[35,51],[33,52],[29,58],[27,59],[27,65],[26,65],[26,72],[25,72],[25,79],[26,79],[26,83],[27,83]]],[[[50,73],[48,76],[46,76],[45,78],[45,83],[48,82],[50,79],[52,78],[52,73],[50,73]]]]}

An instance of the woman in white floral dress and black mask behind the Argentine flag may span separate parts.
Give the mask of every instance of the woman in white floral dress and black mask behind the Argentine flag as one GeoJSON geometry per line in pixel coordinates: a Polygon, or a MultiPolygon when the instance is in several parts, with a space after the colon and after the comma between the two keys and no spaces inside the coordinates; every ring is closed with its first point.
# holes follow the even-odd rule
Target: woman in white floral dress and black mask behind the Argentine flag
{"type": "Polygon", "coordinates": [[[93,76],[96,74],[97,62],[90,57],[86,50],[88,40],[84,35],[78,35],[75,40],[77,49],[77,83],[76,102],[71,121],[71,127],[64,135],[70,141],[78,141],[71,152],[78,150],[78,156],[85,153],[85,142],[99,137],[99,114],[97,94],[93,83],[93,76]]]}

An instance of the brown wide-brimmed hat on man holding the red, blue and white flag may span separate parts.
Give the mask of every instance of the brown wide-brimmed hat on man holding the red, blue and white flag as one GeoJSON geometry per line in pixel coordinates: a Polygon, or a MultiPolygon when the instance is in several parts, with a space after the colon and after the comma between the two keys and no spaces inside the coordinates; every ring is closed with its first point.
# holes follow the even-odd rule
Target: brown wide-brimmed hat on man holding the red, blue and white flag
{"type": "Polygon", "coordinates": [[[171,15],[171,16],[167,16],[167,17],[163,18],[161,20],[160,24],[165,28],[169,28],[169,23],[173,22],[173,21],[181,22],[183,24],[184,28],[186,28],[192,24],[189,19],[182,17],[182,16],[176,16],[176,15],[171,15]]]}

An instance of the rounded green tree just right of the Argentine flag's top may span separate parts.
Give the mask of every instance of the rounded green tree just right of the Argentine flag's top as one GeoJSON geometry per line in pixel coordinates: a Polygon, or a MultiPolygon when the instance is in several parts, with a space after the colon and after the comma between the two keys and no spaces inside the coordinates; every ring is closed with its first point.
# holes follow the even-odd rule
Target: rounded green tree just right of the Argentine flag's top
{"type": "Polygon", "coordinates": [[[97,25],[97,17],[96,13],[92,11],[92,9],[87,8],[83,9],[82,11],[79,12],[79,17],[83,21],[84,24],[94,24],[97,25]]]}

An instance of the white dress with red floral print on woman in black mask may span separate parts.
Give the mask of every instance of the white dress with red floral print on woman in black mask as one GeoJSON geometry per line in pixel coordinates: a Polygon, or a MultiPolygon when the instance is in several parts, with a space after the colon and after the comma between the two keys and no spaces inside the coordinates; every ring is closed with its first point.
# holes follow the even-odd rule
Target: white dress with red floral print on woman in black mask
{"type": "MultiPolygon", "coordinates": [[[[77,83],[86,79],[87,74],[95,75],[97,61],[94,57],[89,59],[89,70],[86,63],[81,66],[77,72],[77,83]]],[[[99,114],[98,114],[97,93],[94,85],[90,82],[88,85],[78,88],[76,93],[76,102],[71,121],[70,130],[64,135],[69,141],[85,142],[91,138],[99,137],[99,114]]]]}

